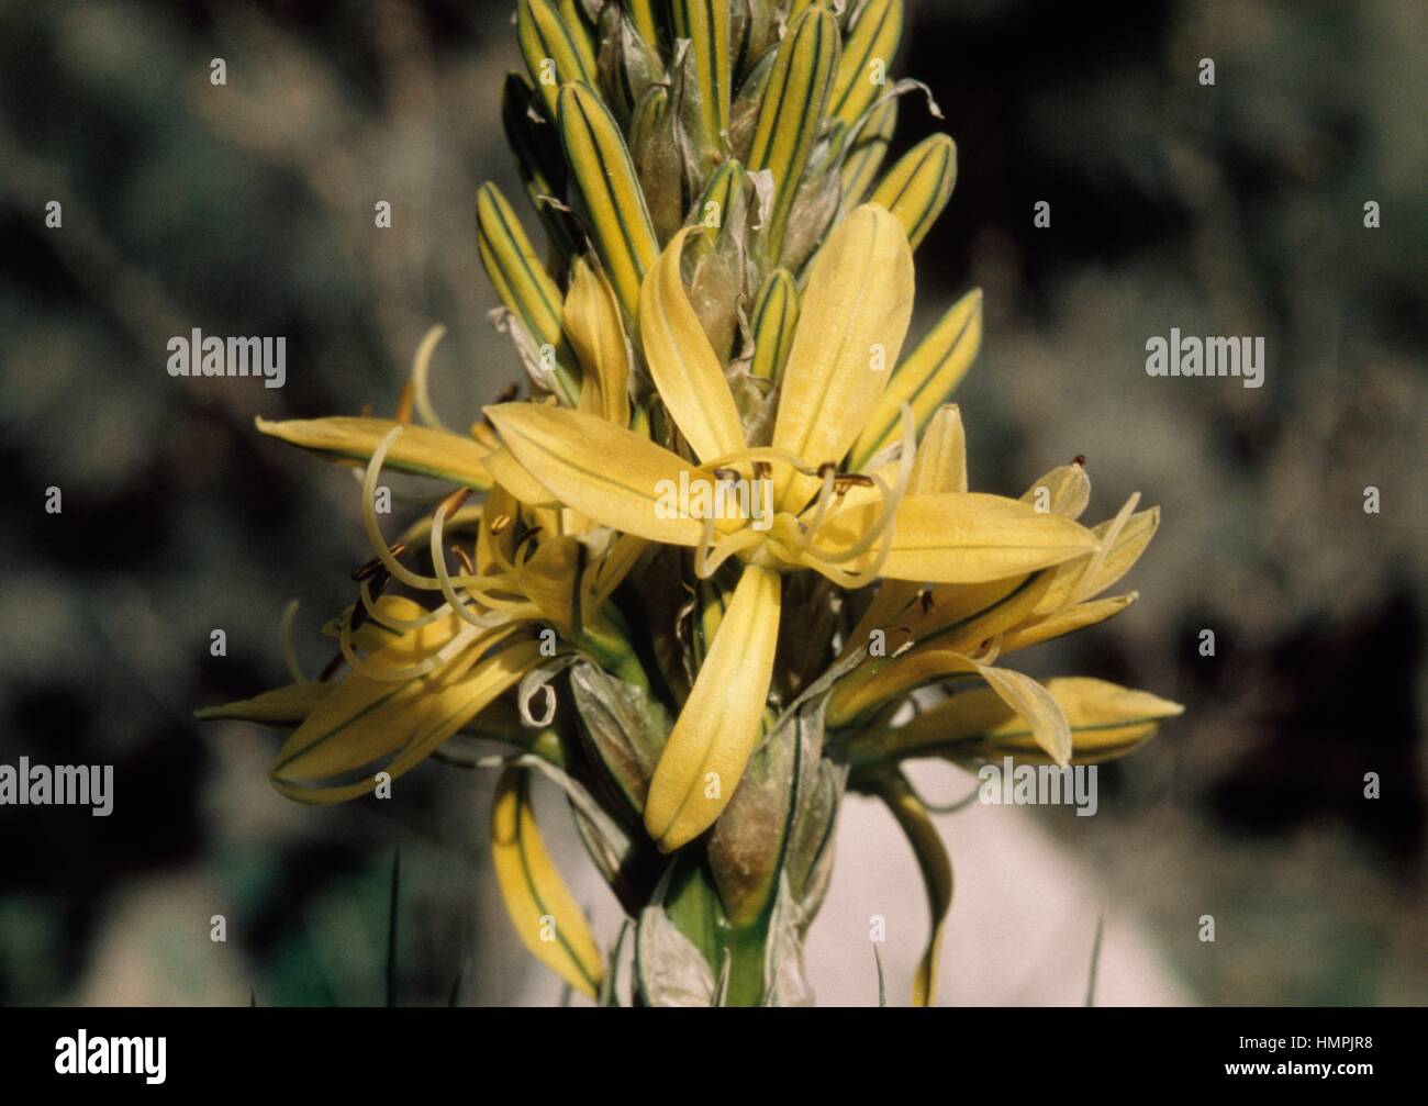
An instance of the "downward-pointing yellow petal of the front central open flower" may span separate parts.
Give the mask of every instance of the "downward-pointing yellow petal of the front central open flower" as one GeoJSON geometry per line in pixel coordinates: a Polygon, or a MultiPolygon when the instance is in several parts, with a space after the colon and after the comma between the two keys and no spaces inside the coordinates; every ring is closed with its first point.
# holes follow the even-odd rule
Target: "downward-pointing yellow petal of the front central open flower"
{"type": "Polygon", "coordinates": [[[778,574],[747,565],[650,781],[644,825],[663,852],[708,829],[758,744],[778,644],[778,574]]]}

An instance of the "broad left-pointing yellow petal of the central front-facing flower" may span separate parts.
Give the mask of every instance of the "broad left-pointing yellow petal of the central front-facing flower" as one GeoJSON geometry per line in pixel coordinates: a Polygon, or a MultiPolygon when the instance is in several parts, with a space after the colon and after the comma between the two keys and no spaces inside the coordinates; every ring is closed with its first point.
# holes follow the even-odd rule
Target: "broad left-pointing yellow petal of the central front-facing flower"
{"type": "Polygon", "coordinates": [[[703,525],[668,505],[681,474],[691,488],[708,481],[668,450],[580,411],[501,404],[486,414],[516,460],[563,504],[650,541],[700,544],[703,525]]]}

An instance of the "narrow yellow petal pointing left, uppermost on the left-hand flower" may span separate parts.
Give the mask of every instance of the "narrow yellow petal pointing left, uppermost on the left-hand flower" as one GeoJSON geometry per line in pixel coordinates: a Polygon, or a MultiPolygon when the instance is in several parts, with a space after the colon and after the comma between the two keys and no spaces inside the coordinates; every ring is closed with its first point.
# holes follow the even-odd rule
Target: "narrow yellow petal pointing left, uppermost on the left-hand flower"
{"type": "MultiPolygon", "coordinates": [[[[398,425],[390,418],[294,418],[284,422],[254,420],[273,438],[291,442],[326,461],[360,465],[398,425]]],[[[428,427],[406,427],[387,451],[386,465],[401,472],[436,477],[476,491],[491,487],[484,458],[488,450],[457,434],[428,427]]]]}

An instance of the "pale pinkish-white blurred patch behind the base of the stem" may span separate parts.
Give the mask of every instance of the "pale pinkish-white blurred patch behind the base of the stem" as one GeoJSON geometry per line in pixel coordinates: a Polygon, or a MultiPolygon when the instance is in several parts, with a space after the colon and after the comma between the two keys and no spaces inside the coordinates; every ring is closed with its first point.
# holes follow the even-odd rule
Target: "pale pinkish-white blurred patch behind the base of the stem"
{"type": "MultiPolygon", "coordinates": [[[[930,801],[965,795],[975,783],[970,775],[931,762],[910,763],[907,773],[930,801]]],[[[957,813],[934,818],[951,855],[955,882],[942,938],[938,1005],[1082,1005],[1095,923],[1102,912],[1105,930],[1095,1003],[1194,1005],[1194,996],[1137,918],[1134,903],[1124,900],[1082,853],[1058,842],[1035,811],[974,802],[957,813]]],[[[558,821],[543,818],[541,825],[551,838],[564,841],[554,831],[558,821]]],[[[611,942],[620,929],[620,908],[578,855],[578,845],[568,842],[574,845],[568,848],[554,841],[551,845],[560,848],[561,871],[577,899],[593,905],[597,935],[611,942]]],[[[1125,848],[1134,846],[1128,833],[1125,848]]],[[[493,885],[490,892],[494,891],[493,885]]],[[[912,973],[927,943],[927,896],[917,861],[892,816],[878,801],[851,795],[840,815],[828,898],[808,935],[807,969],[820,1006],[877,1005],[873,915],[885,919],[881,953],[887,1003],[908,1006],[912,973]]],[[[623,973],[621,986],[624,979],[623,973]]],[[[560,999],[560,990],[558,980],[531,960],[516,1002],[551,1005],[560,999]]]]}

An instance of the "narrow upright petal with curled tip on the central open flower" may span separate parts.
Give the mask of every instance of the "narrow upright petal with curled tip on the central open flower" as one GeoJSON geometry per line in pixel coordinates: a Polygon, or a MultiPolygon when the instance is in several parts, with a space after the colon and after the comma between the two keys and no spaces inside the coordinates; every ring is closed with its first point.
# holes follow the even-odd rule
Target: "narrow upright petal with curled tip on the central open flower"
{"type": "Polygon", "coordinates": [[[680,432],[701,461],[738,452],[744,431],[714,347],[684,293],[685,227],[664,248],[640,291],[640,340],[650,375],[680,432]]]}

